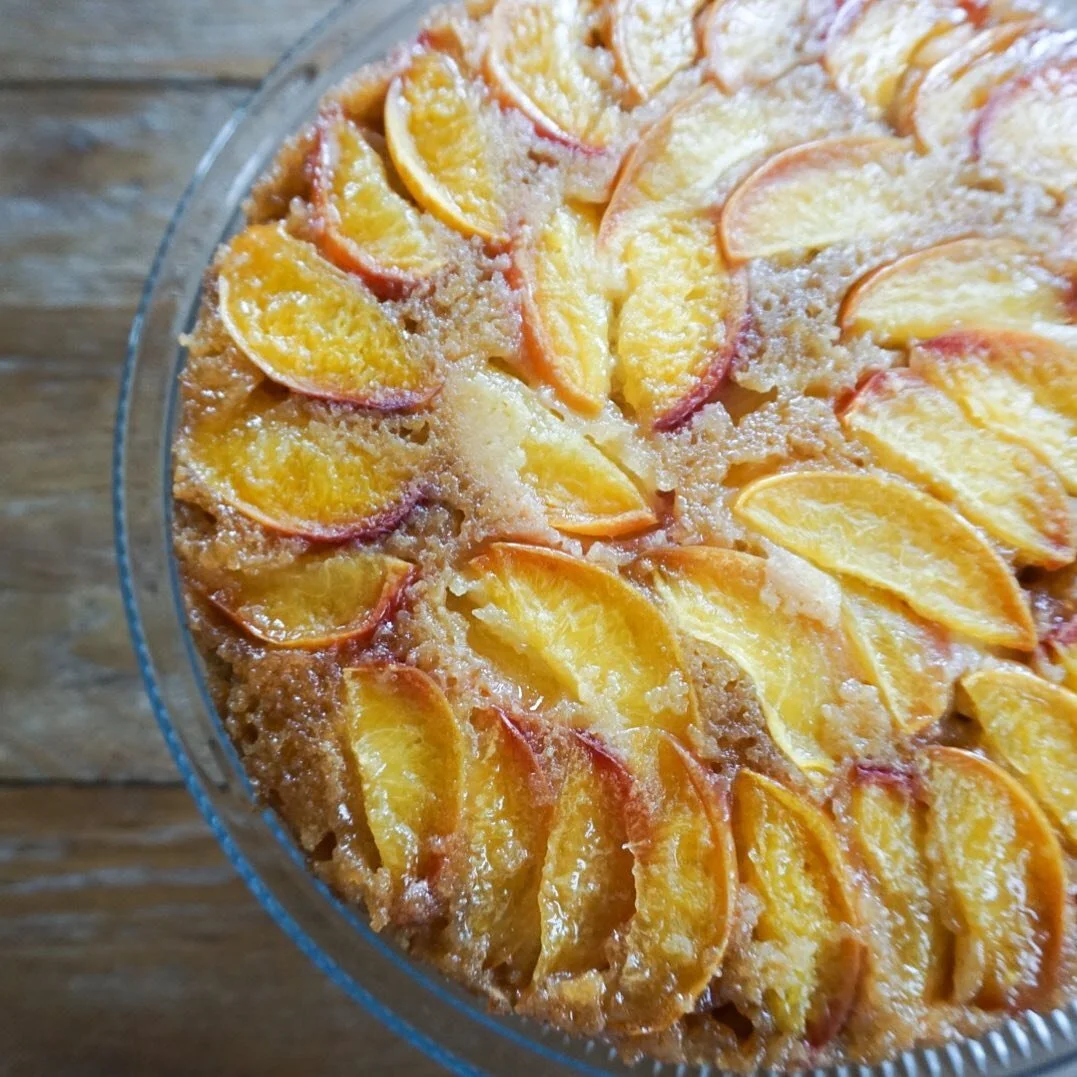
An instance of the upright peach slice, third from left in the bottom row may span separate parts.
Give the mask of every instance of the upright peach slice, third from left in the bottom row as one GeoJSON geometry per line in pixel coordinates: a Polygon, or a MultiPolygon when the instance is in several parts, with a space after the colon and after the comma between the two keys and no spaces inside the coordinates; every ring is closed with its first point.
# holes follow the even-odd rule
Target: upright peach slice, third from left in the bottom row
{"type": "Polygon", "coordinates": [[[593,741],[573,735],[554,809],[538,887],[540,988],[609,966],[607,945],[635,908],[624,765],[593,741]]]}

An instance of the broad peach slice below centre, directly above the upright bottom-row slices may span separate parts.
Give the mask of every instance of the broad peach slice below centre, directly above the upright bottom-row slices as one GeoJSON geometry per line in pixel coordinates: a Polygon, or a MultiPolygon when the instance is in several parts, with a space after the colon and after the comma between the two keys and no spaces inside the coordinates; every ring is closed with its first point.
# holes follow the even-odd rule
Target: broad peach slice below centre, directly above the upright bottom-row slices
{"type": "Polygon", "coordinates": [[[673,630],[649,599],[589,561],[494,543],[471,562],[473,616],[550,671],[609,735],[655,727],[684,738],[696,698],[673,630]]]}

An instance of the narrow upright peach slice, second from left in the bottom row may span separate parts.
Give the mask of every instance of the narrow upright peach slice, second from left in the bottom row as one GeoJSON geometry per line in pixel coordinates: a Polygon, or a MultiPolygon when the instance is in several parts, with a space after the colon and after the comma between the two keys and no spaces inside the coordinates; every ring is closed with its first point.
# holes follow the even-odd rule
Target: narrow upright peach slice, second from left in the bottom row
{"type": "Polygon", "coordinates": [[[487,968],[527,982],[542,950],[538,891],[554,793],[528,738],[496,710],[472,714],[476,754],[464,771],[464,920],[487,968]]]}

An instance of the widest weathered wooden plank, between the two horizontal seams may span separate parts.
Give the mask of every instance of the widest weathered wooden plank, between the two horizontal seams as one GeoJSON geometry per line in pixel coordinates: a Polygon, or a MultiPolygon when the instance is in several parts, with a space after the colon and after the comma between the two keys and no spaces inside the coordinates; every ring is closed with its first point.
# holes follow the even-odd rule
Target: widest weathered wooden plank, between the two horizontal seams
{"type": "Polygon", "coordinates": [[[116,588],[112,423],[153,251],[242,97],[0,88],[0,779],[174,779],[116,588]]]}

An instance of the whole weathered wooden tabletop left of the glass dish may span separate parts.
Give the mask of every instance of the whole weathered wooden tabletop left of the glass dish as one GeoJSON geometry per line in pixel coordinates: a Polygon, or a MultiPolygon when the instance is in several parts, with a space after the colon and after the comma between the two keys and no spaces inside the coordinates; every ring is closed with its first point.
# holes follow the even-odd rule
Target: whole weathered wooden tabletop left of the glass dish
{"type": "Polygon", "coordinates": [[[109,456],[150,258],[332,0],[0,0],[0,1074],[440,1071],[235,877],[153,722],[109,456]]]}

